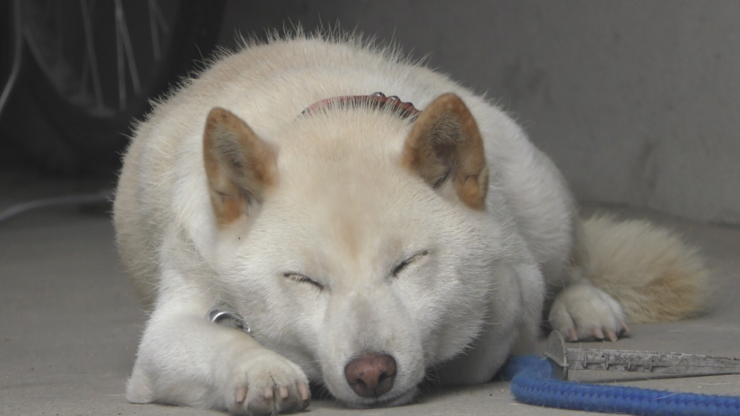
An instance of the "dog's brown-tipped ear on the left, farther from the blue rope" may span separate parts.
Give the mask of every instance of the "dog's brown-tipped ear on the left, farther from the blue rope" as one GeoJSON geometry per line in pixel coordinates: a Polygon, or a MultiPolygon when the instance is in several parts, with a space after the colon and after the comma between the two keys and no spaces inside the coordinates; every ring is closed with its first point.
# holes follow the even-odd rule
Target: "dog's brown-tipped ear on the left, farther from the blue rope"
{"type": "Polygon", "coordinates": [[[231,224],[263,201],[277,183],[277,154],[249,126],[223,108],[206,118],[203,161],[220,225],[231,224]]]}

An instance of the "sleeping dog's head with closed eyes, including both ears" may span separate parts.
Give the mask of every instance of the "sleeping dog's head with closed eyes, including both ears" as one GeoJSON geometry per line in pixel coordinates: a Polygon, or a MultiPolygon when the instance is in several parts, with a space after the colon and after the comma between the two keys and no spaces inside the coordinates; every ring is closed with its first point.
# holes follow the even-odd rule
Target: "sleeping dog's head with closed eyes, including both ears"
{"type": "Polygon", "coordinates": [[[216,285],[260,343],[348,406],[411,400],[427,371],[480,332],[494,290],[486,277],[502,250],[482,207],[485,162],[471,167],[476,156],[454,149],[482,158],[482,144],[454,136],[472,134],[449,115],[467,112],[462,101],[442,104],[414,123],[367,110],[313,115],[286,127],[279,148],[245,150],[266,155],[258,161],[209,149],[209,134],[235,130],[232,115],[206,127],[216,285]],[[254,171],[229,171],[243,169],[254,171]]]}

